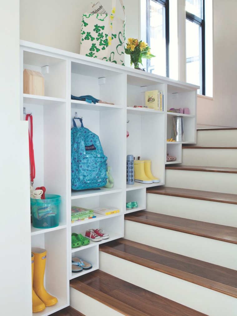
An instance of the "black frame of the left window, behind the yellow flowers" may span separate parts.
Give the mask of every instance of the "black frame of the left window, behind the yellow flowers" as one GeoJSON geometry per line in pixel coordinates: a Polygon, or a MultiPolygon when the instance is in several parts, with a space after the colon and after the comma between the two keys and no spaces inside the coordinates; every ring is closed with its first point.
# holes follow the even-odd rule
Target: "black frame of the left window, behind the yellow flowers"
{"type": "MultiPolygon", "coordinates": [[[[166,76],[169,77],[169,0],[150,0],[161,4],[165,8],[165,38],[166,38],[166,76]]],[[[146,38],[147,44],[150,46],[150,20],[149,20],[149,0],[146,0],[146,38]]],[[[154,52],[155,53],[155,52],[154,52]]],[[[152,72],[151,61],[147,59],[146,71],[152,72]]]]}

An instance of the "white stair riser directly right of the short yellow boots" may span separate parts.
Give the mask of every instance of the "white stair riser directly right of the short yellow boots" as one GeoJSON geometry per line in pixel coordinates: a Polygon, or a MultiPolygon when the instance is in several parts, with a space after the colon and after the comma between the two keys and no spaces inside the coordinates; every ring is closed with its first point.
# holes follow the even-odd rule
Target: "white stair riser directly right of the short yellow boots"
{"type": "Polygon", "coordinates": [[[232,194],[237,193],[237,173],[167,169],[165,175],[165,186],[232,194]]]}

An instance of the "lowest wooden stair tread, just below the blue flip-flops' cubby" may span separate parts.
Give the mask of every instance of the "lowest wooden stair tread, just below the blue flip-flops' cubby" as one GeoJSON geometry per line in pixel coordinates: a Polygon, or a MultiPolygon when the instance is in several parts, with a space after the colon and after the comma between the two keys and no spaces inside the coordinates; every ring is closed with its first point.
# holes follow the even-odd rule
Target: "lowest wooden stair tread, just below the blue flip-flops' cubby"
{"type": "Polygon", "coordinates": [[[205,316],[100,270],[71,280],[70,286],[126,316],[205,316]]]}

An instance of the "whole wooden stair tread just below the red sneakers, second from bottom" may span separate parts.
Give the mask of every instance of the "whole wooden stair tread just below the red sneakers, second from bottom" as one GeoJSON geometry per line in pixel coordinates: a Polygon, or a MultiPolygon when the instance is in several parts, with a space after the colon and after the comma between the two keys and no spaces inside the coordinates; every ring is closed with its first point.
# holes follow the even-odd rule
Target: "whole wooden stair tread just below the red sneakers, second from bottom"
{"type": "Polygon", "coordinates": [[[100,251],[237,298],[237,271],[135,241],[119,239],[100,251]]]}

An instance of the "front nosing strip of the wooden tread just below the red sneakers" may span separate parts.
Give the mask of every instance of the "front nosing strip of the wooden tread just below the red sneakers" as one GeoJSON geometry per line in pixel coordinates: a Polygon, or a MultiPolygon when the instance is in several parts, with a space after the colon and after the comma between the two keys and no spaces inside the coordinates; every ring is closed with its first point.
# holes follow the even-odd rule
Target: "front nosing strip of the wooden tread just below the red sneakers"
{"type": "Polygon", "coordinates": [[[193,275],[189,272],[181,271],[179,269],[168,267],[165,264],[155,263],[153,261],[150,261],[149,259],[135,256],[133,254],[128,254],[127,252],[123,252],[123,251],[120,251],[118,249],[112,249],[111,247],[106,246],[106,245],[101,245],[100,251],[105,252],[107,254],[111,254],[112,256],[115,256],[117,258],[121,258],[121,259],[130,261],[132,263],[139,264],[143,267],[146,267],[146,268],[149,268],[149,269],[152,269],[152,270],[155,270],[155,271],[158,271],[158,272],[161,272],[161,273],[173,276],[173,277],[177,277],[177,278],[184,280],[186,282],[194,283],[194,284],[197,284],[199,286],[203,286],[204,288],[211,289],[211,290],[214,290],[216,292],[237,298],[237,289],[235,289],[229,285],[226,285],[226,284],[223,284],[223,283],[220,283],[217,281],[213,281],[213,280],[207,279],[207,278],[202,277],[202,276],[196,276],[196,275],[193,275]],[[135,260],[136,258],[142,258],[142,260],[135,260]],[[195,278],[198,279],[199,282],[195,281],[195,278]],[[233,291],[233,289],[234,289],[234,291],[233,291]]]}

